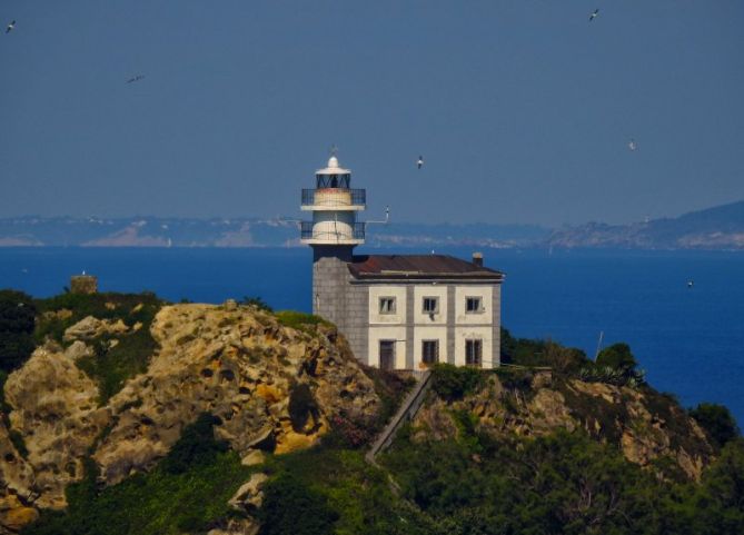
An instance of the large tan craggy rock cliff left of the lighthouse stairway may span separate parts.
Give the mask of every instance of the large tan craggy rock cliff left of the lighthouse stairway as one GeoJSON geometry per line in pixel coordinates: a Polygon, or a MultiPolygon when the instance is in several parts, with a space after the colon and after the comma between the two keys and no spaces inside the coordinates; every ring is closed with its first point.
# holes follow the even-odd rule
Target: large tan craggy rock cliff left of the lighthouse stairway
{"type": "Polygon", "coordinates": [[[83,477],[86,458],[101,485],[150,469],[200,414],[214,415],[217,437],[249,463],[257,450],[308,447],[331,417],[375,414],[380,404],[335,329],[285,327],[235,304],[163,307],[150,327],[158,349],[147,371],[101,404],[78,364],[126,331],[86,318],[67,329],[67,347],[47,343],[8,377],[0,533],[16,532],[40,508],[65,507],[65,488],[83,477]],[[290,403],[300,387],[311,403],[298,418],[290,403]]]}

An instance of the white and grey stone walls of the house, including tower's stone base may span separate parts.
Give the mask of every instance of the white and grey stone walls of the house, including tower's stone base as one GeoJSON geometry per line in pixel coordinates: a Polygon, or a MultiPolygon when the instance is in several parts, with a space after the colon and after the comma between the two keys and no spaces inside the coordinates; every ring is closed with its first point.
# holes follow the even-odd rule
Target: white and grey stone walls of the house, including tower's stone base
{"type": "Polygon", "coordinates": [[[465,340],[483,340],[483,366],[498,366],[500,285],[385,284],[351,277],[351,248],[316,248],[313,264],[313,313],[336,324],[354,355],[379,366],[379,340],[396,340],[396,368],[419,369],[423,340],[439,341],[439,361],[465,364],[465,340]],[[393,314],[380,314],[380,297],[394,297],[393,314]],[[424,297],[439,299],[434,315],[424,314],[424,297]],[[483,310],[465,311],[465,299],[479,297],[483,310]]]}

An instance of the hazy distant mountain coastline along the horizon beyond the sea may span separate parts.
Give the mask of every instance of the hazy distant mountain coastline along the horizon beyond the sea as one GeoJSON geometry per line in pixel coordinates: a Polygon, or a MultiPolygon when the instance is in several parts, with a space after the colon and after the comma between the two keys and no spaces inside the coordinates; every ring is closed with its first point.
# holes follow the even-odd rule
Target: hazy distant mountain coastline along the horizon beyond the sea
{"type": "MultiPolygon", "coordinates": [[[[631,225],[589,222],[552,230],[534,225],[370,225],[371,247],[742,249],[744,201],[673,219],[631,225]]],[[[298,222],[286,218],[0,219],[0,247],[294,247],[298,222]]]]}

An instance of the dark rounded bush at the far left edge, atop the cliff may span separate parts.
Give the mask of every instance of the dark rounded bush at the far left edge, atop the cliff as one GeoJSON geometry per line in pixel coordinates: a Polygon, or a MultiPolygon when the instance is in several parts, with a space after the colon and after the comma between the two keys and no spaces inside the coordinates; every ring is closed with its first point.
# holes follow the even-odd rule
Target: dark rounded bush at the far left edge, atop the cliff
{"type": "Polygon", "coordinates": [[[0,369],[12,371],[28,360],[36,348],[36,306],[31,296],[0,290],[0,369]]]}

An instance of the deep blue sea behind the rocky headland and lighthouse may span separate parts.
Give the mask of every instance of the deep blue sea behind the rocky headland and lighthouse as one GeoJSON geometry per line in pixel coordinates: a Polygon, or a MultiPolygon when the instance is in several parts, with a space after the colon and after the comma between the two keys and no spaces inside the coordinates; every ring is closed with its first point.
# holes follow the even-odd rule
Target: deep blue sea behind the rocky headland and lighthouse
{"type": "MultiPolygon", "coordinates": [[[[472,250],[437,252],[469,258],[472,250]]],[[[503,324],[513,335],[594,355],[602,331],[604,346],[631,345],[659,390],[685,406],[722,403],[744,425],[744,254],[486,249],[484,256],[506,273],[503,324]]],[[[0,248],[0,288],[51,296],[86,270],[102,291],[204,303],[259,296],[275,309],[309,310],[310,262],[309,248],[0,248]]]]}

